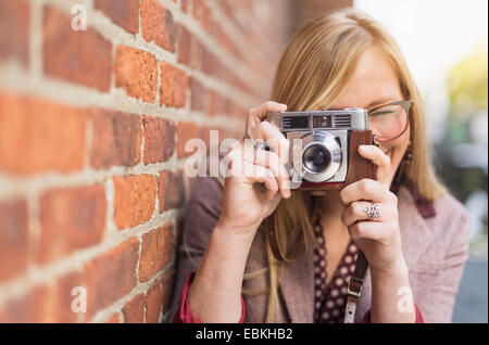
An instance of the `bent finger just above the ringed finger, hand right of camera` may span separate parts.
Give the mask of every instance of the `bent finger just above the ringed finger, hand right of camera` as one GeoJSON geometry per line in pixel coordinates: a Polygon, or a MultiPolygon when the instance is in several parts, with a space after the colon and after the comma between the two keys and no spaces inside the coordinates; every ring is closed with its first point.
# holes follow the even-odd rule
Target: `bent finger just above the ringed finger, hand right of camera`
{"type": "Polygon", "coordinates": [[[343,205],[348,206],[352,202],[367,200],[375,203],[393,201],[394,195],[385,184],[372,179],[362,179],[344,187],[340,192],[343,205]]]}

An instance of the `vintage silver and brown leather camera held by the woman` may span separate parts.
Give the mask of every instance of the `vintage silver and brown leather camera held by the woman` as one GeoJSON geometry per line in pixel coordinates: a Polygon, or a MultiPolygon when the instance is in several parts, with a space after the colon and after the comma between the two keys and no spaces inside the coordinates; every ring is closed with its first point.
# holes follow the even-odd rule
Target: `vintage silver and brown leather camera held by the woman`
{"type": "Polygon", "coordinates": [[[359,145],[375,144],[366,110],[269,113],[267,120],[289,139],[292,189],[339,190],[374,178],[375,165],[358,151],[359,145]]]}

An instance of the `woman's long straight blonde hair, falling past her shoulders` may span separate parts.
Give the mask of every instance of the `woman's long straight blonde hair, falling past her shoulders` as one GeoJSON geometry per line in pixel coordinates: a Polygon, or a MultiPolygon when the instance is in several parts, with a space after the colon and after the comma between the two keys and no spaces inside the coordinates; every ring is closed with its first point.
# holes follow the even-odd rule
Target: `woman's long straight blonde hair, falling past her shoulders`
{"type": "MultiPolygon", "coordinates": [[[[285,103],[289,111],[327,108],[344,88],[355,71],[360,55],[368,48],[380,48],[396,72],[400,90],[405,100],[413,100],[411,110],[411,145],[414,161],[408,167],[402,164],[398,174],[408,178],[419,194],[435,201],[446,193],[437,180],[425,138],[425,115],[419,91],[408,68],[402,53],[391,35],[375,20],[356,9],[340,10],[309,22],[288,43],[278,64],[272,100],[285,103]],[[400,170],[401,169],[401,170],[400,170]]],[[[312,199],[308,192],[293,191],[288,200],[281,200],[274,212],[278,245],[287,252],[292,239],[302,237],[304,248],[313,243],[311,216],[312,199]]],[[[265,322],[274,322],[278,306],[278,286],[284,263],[277,261],[266,243],[268,267],[244,274],[244,279],[268,272],[268,306],[265,322]]]]}

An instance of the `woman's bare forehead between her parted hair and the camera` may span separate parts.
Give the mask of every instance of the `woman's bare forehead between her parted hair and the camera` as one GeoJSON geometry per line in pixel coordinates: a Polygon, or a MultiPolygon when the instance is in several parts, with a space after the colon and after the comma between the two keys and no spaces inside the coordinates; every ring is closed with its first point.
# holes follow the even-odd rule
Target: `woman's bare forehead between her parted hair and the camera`
{"type": "Polygon", "coordinates": [[[373,103],[401,99],[396,72],[385,53],[377,47],[371,47],[360,56],[352,78],[330,107],[368,107],[373,103]]]}

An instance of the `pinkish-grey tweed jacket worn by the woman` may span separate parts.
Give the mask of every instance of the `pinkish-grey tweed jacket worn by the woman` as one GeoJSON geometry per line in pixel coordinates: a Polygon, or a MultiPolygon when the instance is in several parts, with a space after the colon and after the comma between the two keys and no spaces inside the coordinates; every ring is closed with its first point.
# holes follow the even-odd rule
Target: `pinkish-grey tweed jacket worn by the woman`
{"type": "MultiPolygon", "coordinates": [[[[422,201],[405,184],[398,189],[397,196],[402,251],[409,267],[414,303],[425,322],[450,322],[468,256],[467,212],[449,193],[431,205],[434,212],[419,207],[422,201]]],[[[180,234],[172,317],[177,312],[187,277],[199,268],[221,209],[222,183],[214,178],[198,178],[193,182],[180,234]]],[[[246,272],[267,267],[265,243],[265,232],[259,231],[251,245],[246,272]]],[[[294,261],[285,264],[278,291],[276,322],[314,322],[314,261],[311,252],[304,251],[294,261]]],[[[260,291],[267,285],[266,272],[243,281],[243,289],[249,291],[260,291]]],[[[371,296],[372,283],[367,270],[362,295],[358,301],[355,322],[362,322],[371,308],[371,296]]],[[[244,322],[263,323],[267,295],[243,295],[243,298],[244,322]]]]}

